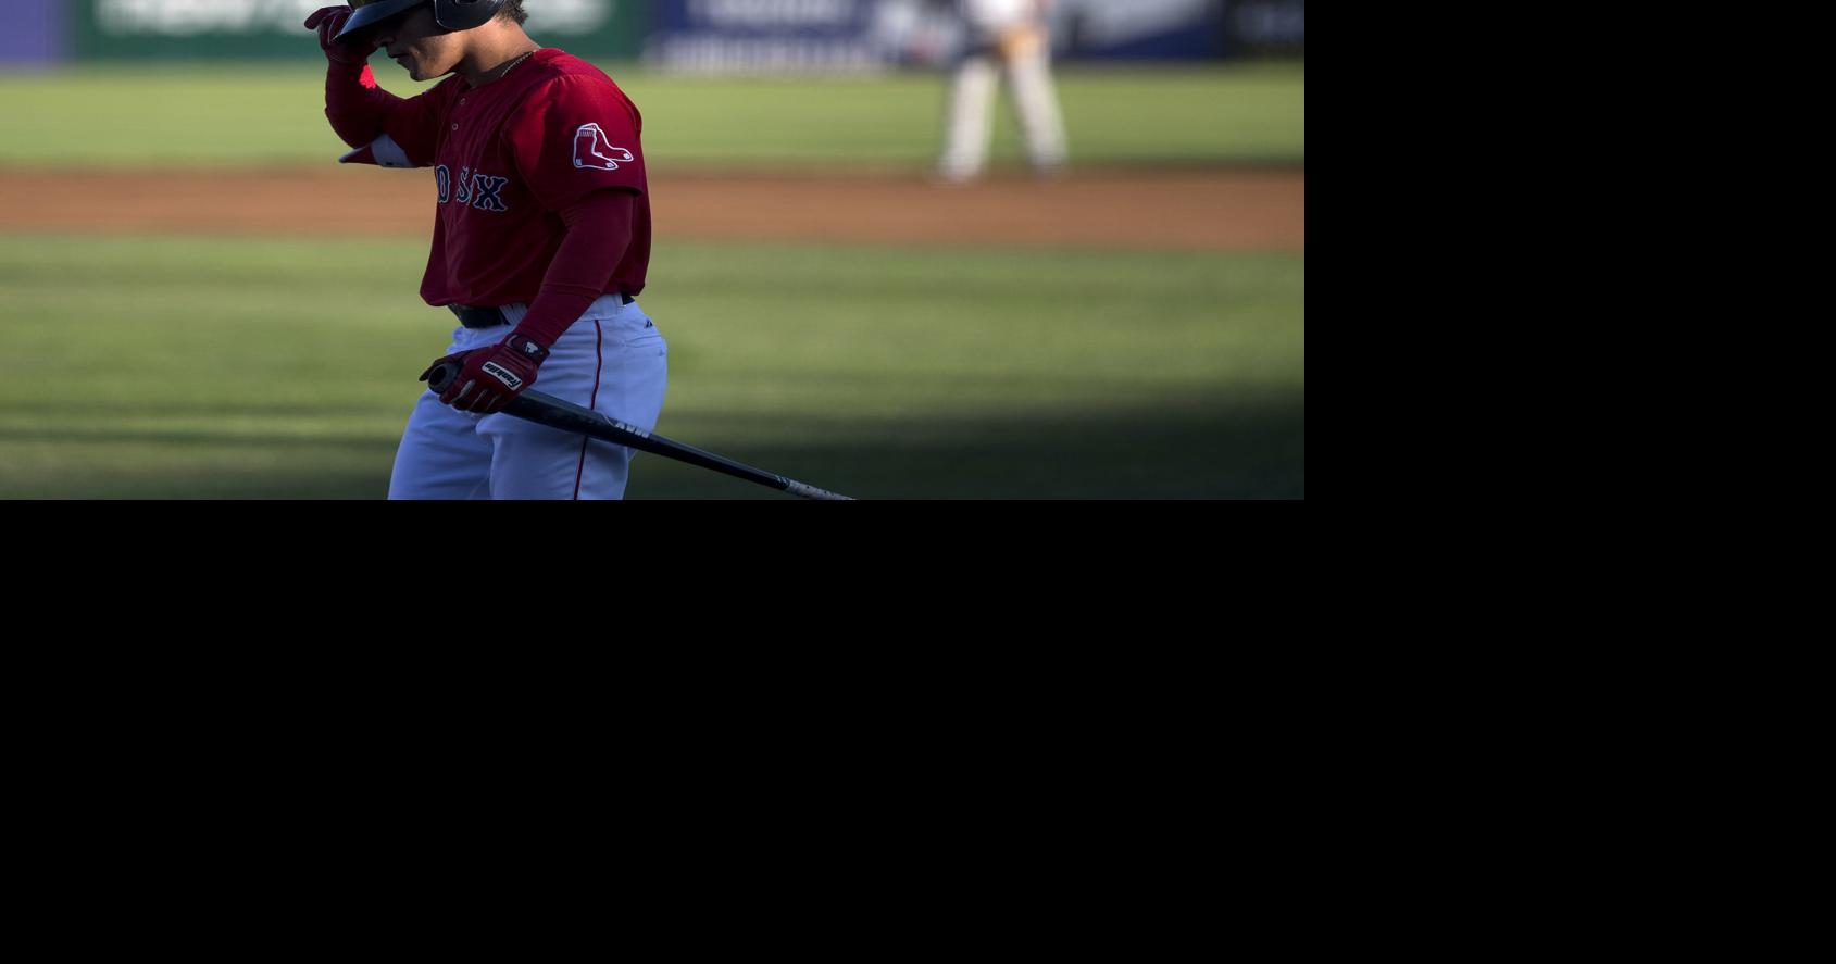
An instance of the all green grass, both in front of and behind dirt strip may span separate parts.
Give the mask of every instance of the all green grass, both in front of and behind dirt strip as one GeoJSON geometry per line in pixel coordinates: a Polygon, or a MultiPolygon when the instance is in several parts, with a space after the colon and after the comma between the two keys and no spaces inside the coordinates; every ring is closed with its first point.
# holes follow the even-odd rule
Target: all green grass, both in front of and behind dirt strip
{"type": "MultiPolygon", "coordinates": [[[[935,152],[933,75],[619,75],[652,169],[935,152]]],[[[1063,95],[1080,165],[1304,163],[1300,66],[1081,72],[1063,95]]],[[[0,174],[325,163],[319,110],[299,66],[0,75],[0,174]]],[[[424,259],[419,237],[42,237],[0,211],[0,498],[382,498],[413,375],[452,329],[415,296],[424,259]]],[[[813,485],[1305,496],[1298,252],[681,244],[663,226],[643,303],[670,342],[657,432],[813,485]]],[[[786,498],[652,455],[628,494],[786,498]]]]}

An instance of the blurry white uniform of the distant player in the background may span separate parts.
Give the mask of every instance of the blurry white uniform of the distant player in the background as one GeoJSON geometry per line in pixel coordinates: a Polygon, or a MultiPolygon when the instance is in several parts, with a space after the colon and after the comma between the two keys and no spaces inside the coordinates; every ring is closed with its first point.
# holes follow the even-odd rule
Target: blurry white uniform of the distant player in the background
{"type": "Polygon", "coordinates": [[[938,173],[971,180],[988,167],[995,132],[995,88],[1006,70],[1026,158],[1039,173],[1065,165],[1065,119],[1052,84],[1050,0],[957,0],[968,37],[949,84],[949,119],[938,173]]]}

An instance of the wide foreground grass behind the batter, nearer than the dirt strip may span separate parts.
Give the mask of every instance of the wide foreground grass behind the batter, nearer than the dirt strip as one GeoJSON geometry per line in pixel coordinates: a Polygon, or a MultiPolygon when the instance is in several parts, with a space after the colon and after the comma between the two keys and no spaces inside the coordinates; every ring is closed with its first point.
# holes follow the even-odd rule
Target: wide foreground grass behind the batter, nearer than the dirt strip
{"type": "MultiPolygon", "coordinates": [[[[452,327],[404,285],[422,259],[0,237],[0,496],[382,496],[452,327]]],[[[1304,494],[1300,255],[661,246],[654,288],[657,432],[813,485],[1304,494]]],[[[784,498],[648,455],[630,496],[784,498]]]]}

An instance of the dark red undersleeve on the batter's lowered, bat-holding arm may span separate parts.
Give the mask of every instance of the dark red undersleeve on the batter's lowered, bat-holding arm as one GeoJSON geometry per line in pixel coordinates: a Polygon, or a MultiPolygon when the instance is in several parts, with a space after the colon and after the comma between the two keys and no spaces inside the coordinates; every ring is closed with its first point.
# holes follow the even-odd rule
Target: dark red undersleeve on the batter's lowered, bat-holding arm
{"type": "Polygon", "coordinates": [[[611,272],[619,270],[632,244],[635,198],[626,191],[595,191],[562,211],[567,237],[542,275],[542,294],[529,303],[529,314],[516,331],[549,347],[606,294],[611,272]]]}

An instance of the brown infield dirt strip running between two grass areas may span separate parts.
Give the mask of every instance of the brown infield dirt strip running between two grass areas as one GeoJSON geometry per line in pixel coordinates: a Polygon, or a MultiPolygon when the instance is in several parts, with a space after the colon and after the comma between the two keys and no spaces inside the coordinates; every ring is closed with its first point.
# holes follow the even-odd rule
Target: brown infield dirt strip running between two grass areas
{"type": "MultiPolygon", "coordinates": [[[[1304,250],[1300,169],[1092,171],[969,185],[896,174],[654,174],[659,241],[1304,250]]],[[[433,178],[375,167],[9,171],[0,231],[411,235],[433,178]]]]}

